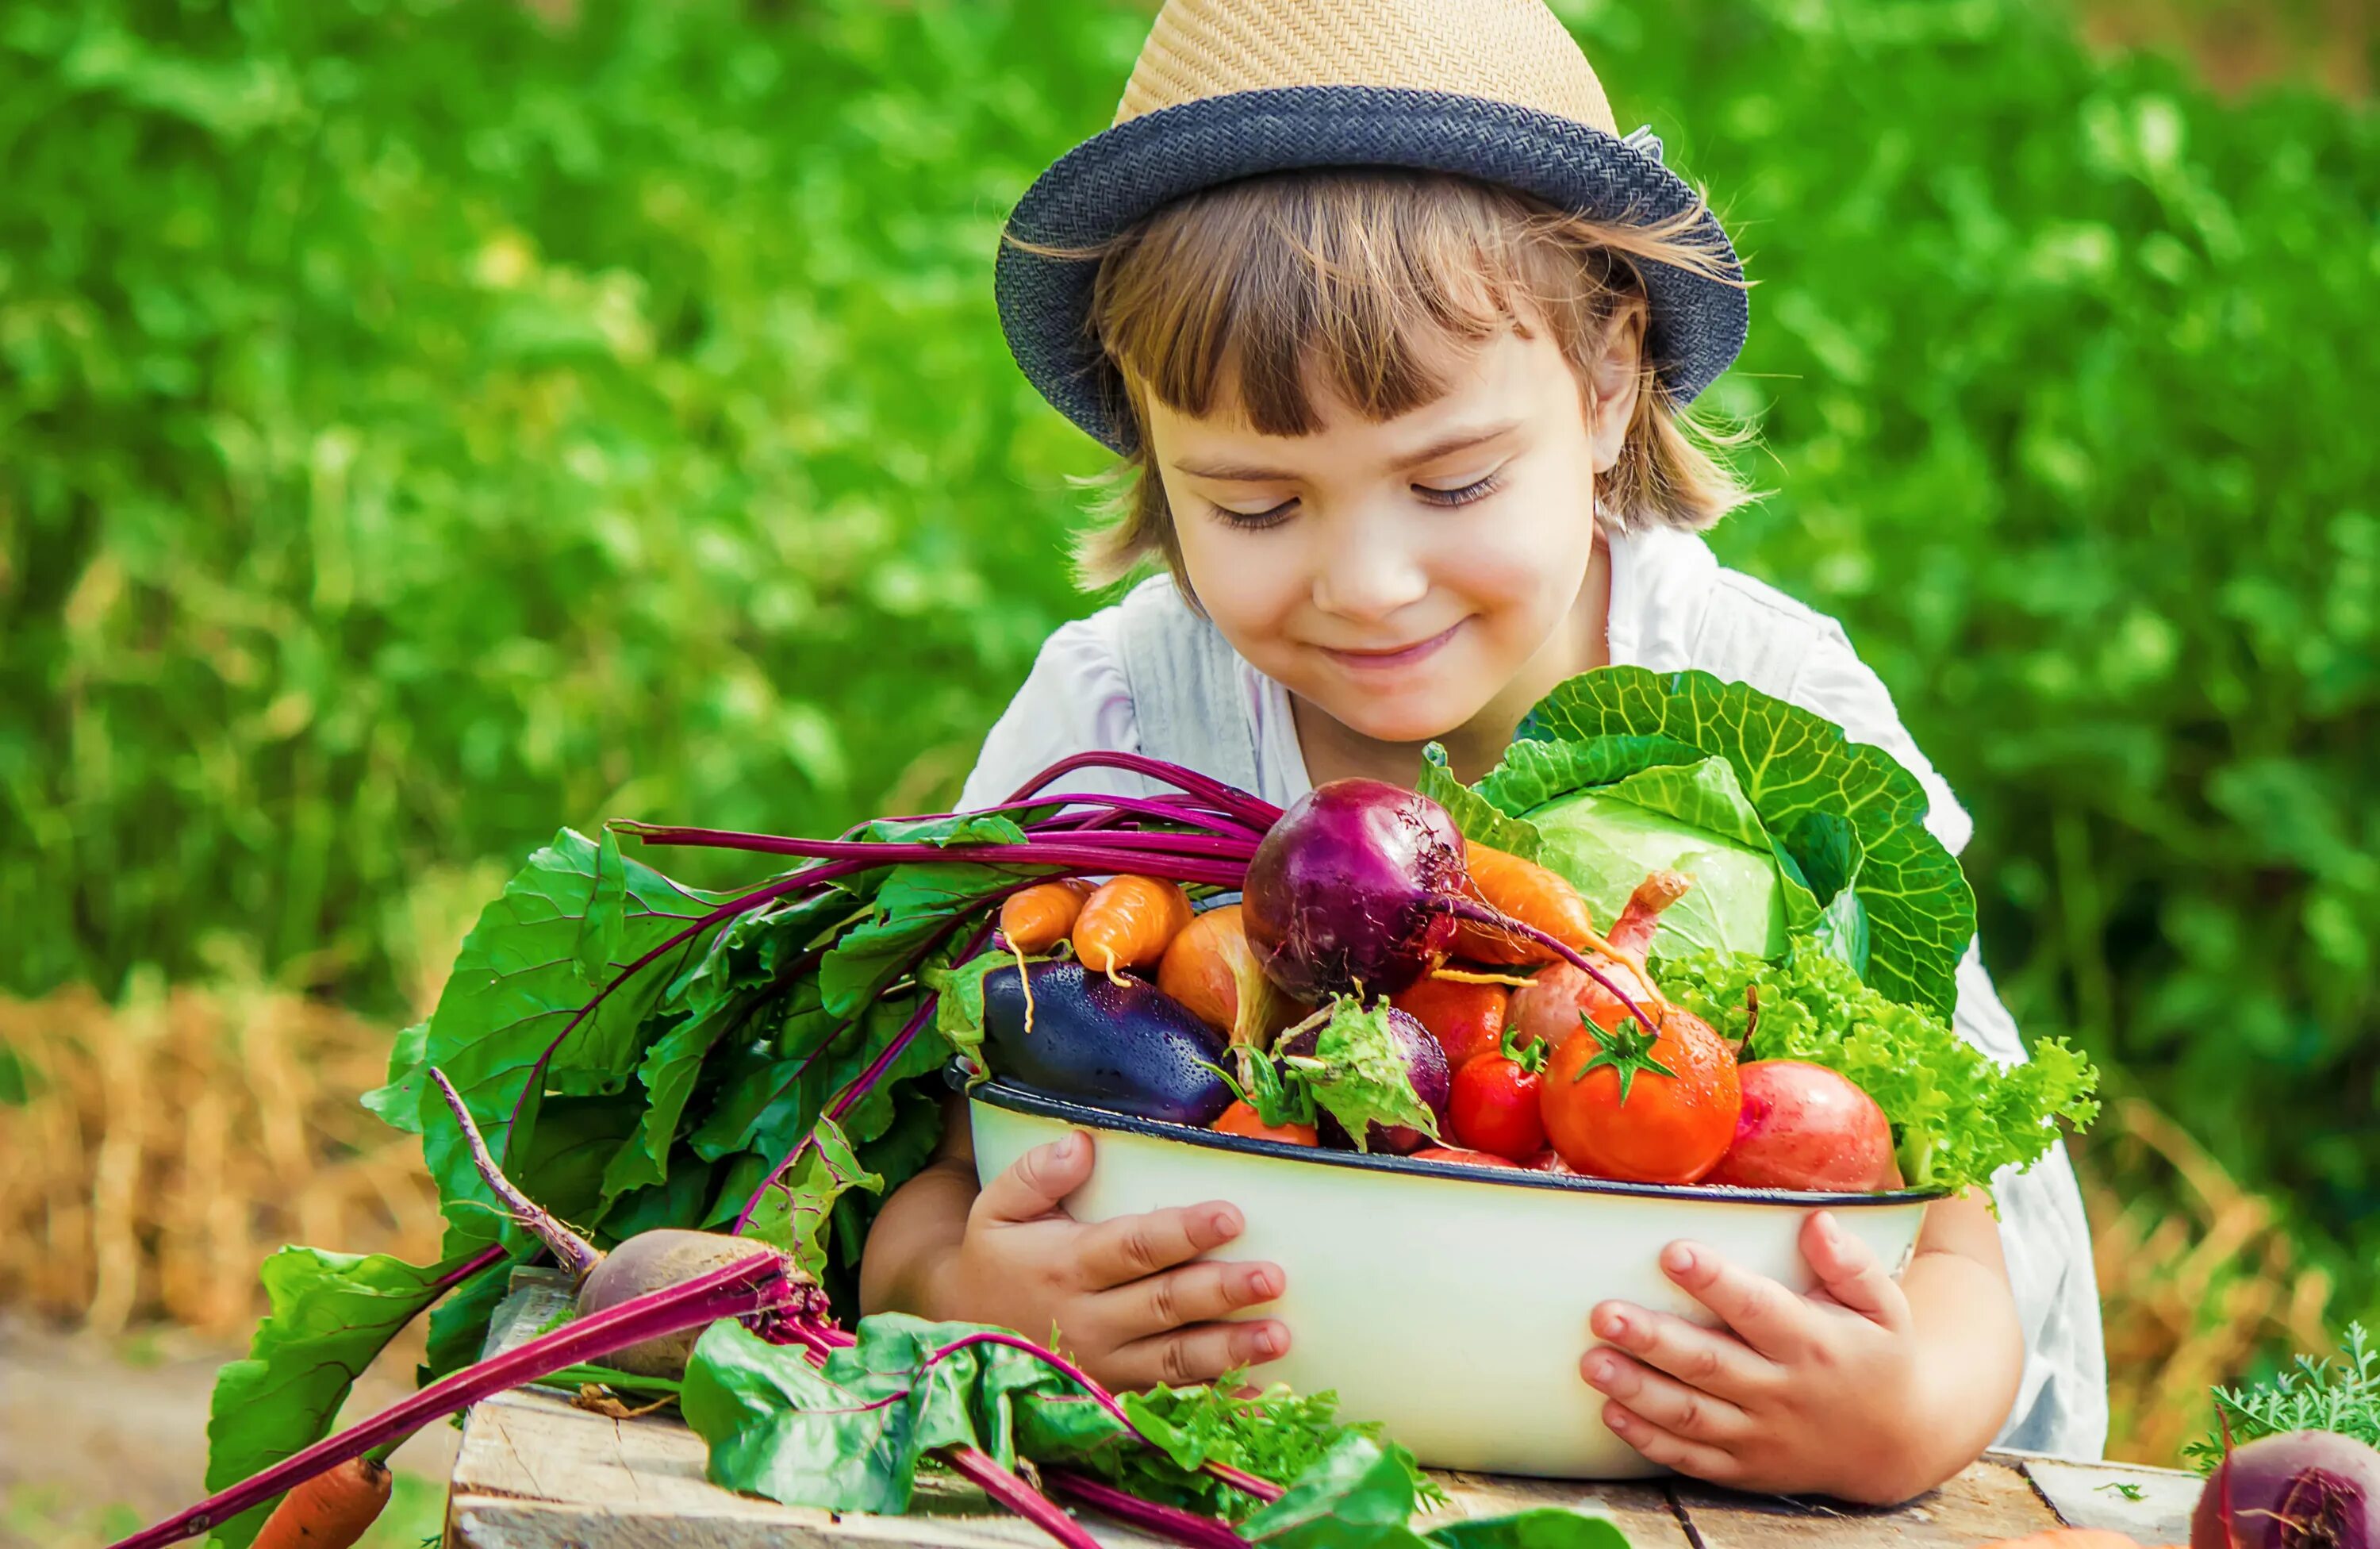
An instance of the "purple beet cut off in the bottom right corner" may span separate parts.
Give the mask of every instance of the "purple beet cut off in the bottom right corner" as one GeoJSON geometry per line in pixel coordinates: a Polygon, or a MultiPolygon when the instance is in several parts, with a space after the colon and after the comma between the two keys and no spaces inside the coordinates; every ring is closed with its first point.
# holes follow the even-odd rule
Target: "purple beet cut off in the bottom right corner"
{"type": "Polygon", "coordinates": [[[2199,1492],[2190,1549],[2380,1549],[2380,1451],[2330,1430],[2235,1447],[2199,1492]]]}

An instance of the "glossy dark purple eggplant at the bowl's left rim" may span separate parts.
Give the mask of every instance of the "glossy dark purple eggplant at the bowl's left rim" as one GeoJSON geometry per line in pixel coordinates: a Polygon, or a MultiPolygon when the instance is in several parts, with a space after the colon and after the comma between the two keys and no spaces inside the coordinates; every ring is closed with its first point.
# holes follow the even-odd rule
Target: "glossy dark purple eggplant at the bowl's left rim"
{"type": "Polygon", "coordinates": [[[1230,1106],[1216,1071],[1228,1040],[1157,985],[1033,964],[1033,1030],[1016,968],[983,976],[983,1061],[992,1075],[1111,1114],[1207,1128],[1230,1106]]]}

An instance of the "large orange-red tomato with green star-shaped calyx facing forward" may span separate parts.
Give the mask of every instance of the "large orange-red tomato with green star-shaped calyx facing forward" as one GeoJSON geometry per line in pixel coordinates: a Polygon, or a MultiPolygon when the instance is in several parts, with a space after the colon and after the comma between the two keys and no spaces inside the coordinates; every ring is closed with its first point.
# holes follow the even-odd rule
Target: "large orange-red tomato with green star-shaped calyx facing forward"
{"type": "Polygon", "coordinates": [[[1571,1168],[1628,1183],[1695,1183],[1728,1154],[1742,1114],[1735,1049],[1692,1011],[1645,1006],[1604,1030],[1580,1023],[1545,1066],[1537,1111],[1571,1168]]]}

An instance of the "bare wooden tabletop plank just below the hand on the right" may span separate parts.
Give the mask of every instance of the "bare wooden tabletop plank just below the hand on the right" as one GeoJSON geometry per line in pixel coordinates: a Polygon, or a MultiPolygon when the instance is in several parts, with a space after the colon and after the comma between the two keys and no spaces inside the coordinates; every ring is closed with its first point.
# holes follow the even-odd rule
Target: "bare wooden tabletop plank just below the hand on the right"
{"type": "Polygon", "coordinates": [[[1990,1539],[2059,1528],[2023,1468],[1983,1459],[1952,1482],[1906,1506],[1868,1509],[1783,1494],[1735,1494],[1699,1480],[1676,1480],[1671,1497],[1704,1549],[1940,1547],[1975,1549],[1990,1539]]]}

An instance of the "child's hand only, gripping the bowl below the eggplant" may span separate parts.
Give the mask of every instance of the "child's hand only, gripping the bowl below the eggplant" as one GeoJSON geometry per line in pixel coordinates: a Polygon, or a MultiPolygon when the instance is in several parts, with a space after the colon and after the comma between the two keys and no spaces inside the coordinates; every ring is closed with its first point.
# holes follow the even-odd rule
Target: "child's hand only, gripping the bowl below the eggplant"
{"type": "Polygon", "coordinates": [[[1190,1263],[1240,1235],[1211,1199],[1083,1225],[1059,1202],[1090,1178],[1090,1135],[1035,1147],[983,1185],[966,1237],[938,1273],[935,1316],[1004,1323],[1033,1340],[1057,1325],[1069,1356],[1109,1387],[1207,1382],[1290,1347],[1278,1318],[1219,1323],[1271,1302],[1273,1263],[1190,1263]]]}

